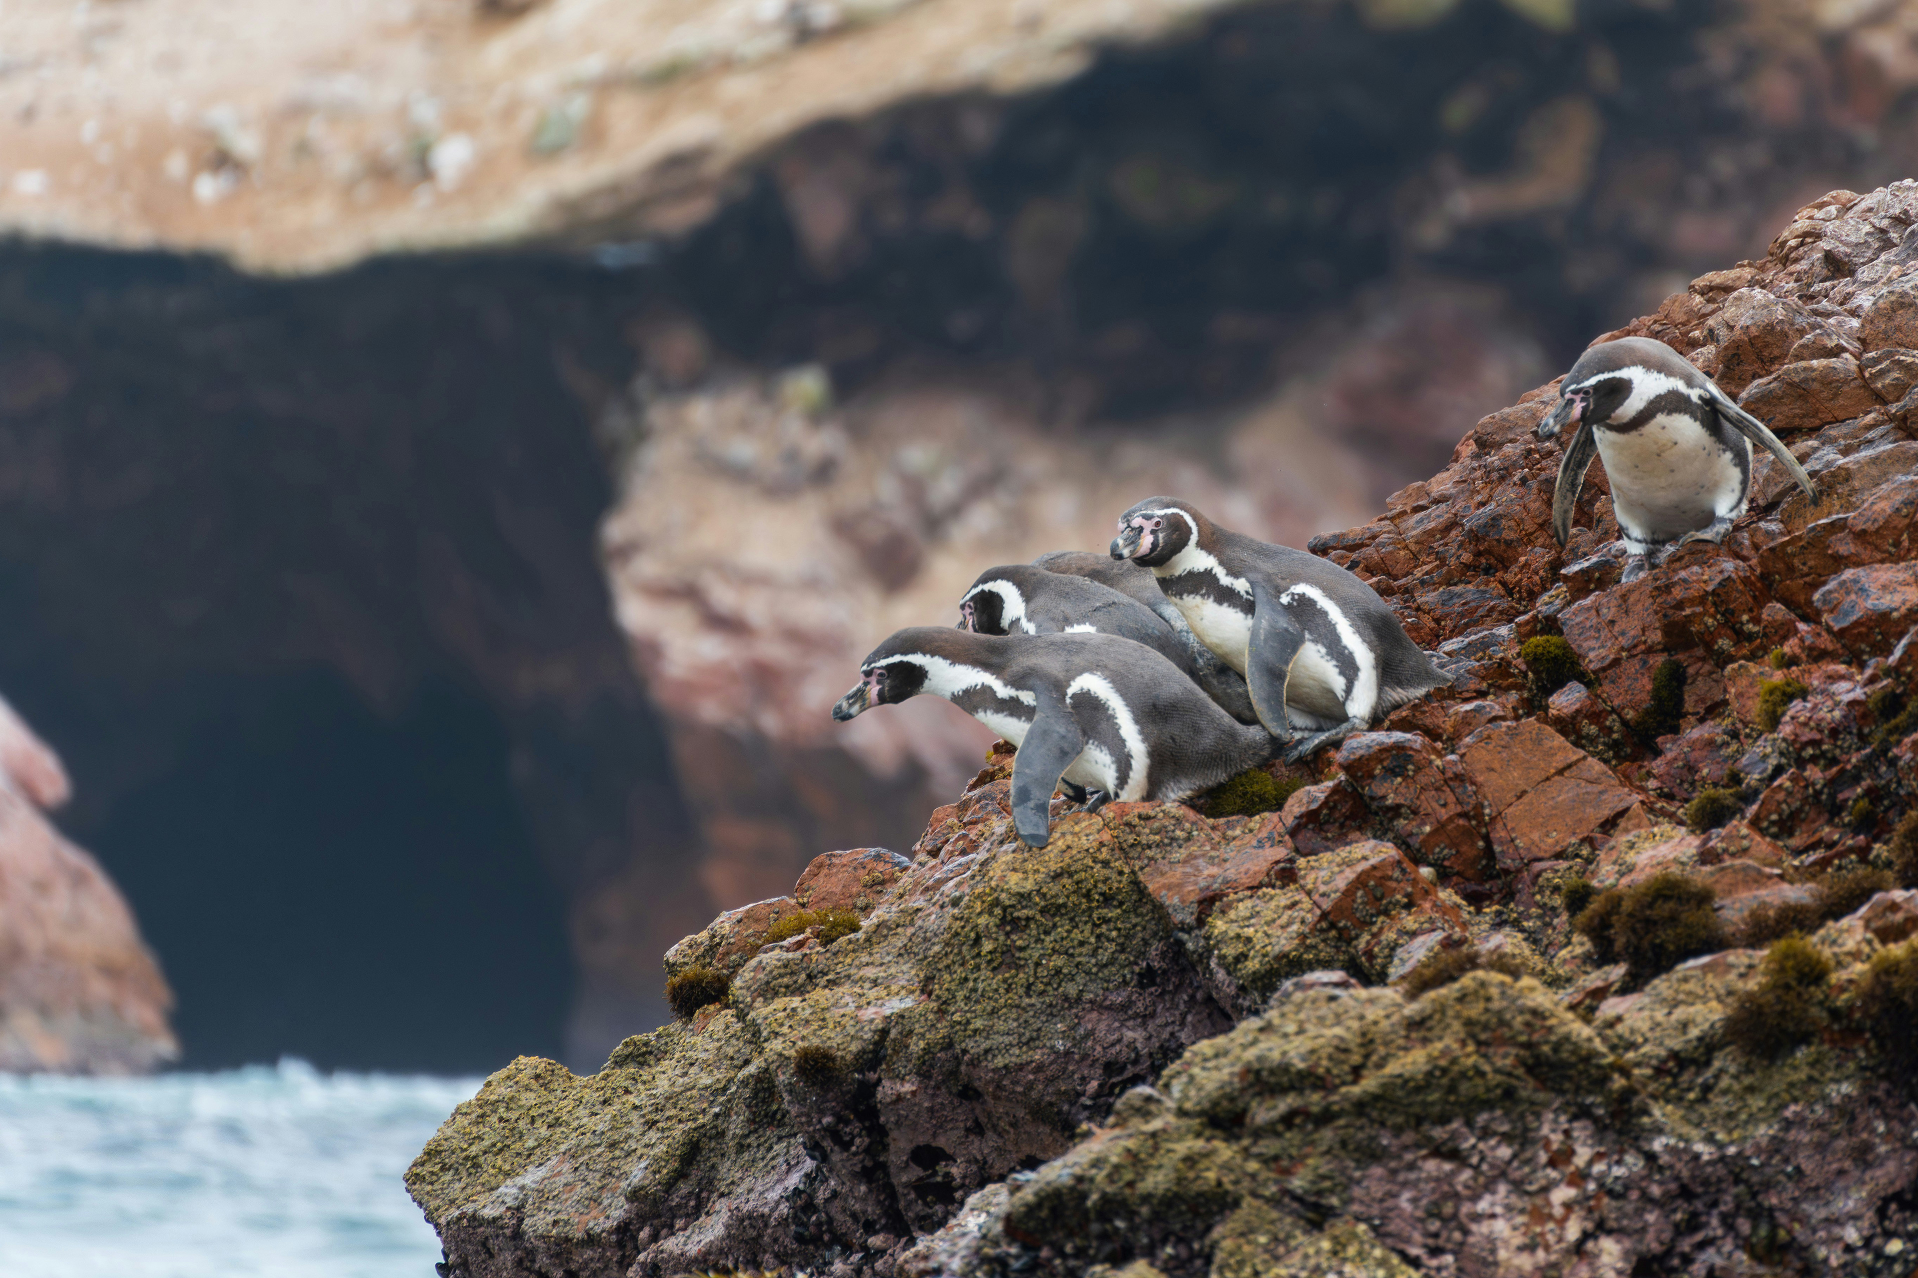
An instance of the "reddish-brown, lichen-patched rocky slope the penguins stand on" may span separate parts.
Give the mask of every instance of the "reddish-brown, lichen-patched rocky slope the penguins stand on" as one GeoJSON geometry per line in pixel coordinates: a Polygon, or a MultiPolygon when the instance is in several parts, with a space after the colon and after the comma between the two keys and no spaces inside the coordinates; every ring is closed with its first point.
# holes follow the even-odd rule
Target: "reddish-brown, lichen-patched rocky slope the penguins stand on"
{"type": "Polygon", "coordinates": [[[1488,416],[1314,540],[1450,690],[1277,810],[1043,851],[994,755],[673,947],[679,1023],[460,1106],[409,1173],[443,1272],[1906,1274],[1914,226],[1834,192],[1626,330],[1816,504],[1761,468],[1623,586],[1602,481],[1552,542],[1552,387],[1488,416]]]}

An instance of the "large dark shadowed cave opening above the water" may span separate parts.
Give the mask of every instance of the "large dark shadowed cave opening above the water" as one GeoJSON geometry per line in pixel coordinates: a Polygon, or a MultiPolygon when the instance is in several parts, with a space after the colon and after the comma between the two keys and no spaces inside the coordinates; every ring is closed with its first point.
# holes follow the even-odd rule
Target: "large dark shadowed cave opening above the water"
{"type": "Polygon", "coordinates": [[[623,376],[633,293],[531,257],[0,253],[0,694],[67,761],[56,820],[186,1067],[591,1067],[581,1017],[658,1021],[652,971],[581,1008],[572,922],[687,841],[577,391],[623,376]]]}

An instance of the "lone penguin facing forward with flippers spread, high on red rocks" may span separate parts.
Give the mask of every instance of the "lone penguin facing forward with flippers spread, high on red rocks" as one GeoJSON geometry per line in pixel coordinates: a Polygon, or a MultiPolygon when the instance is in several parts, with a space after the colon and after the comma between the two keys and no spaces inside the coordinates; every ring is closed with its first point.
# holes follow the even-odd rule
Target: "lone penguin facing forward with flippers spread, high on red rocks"
{"type": "Polygon", "coordinates": [[[1611,510],[1638,581],[1686,542],[1720,542],[1751,500],[1751,445],[1763,445],[1816,502],[1818,489],[1763,422],[1732,402],[1682,354],[1651,337],[1602,341],[1571,366],[1559,400],[1532,435],[1577,427],[1552,494],[1563,546],[1592,456],[1605,460],[1611,510]]]}

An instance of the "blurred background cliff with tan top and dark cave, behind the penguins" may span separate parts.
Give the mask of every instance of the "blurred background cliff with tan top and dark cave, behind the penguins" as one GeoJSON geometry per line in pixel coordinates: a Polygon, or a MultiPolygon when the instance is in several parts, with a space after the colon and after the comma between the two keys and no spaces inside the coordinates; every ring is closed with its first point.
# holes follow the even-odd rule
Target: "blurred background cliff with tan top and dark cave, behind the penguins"
{"type": "MultiPolygon", "coordinates": [[[[433,924],[355,979],[510,968],[593,1063],[662,1016],[666,945],[819,851],[903,845],[978,766],[942,703],[827,707],[982,567],[1099,548],[1162,491],[1291,544],[1360,523],[1807,197],[1918,167],[1905,4],[8,13],[0,224],[403,259],[0,255],[0,680],[86,776],[73,822],[188,1060],[288,1033],[196,1035],[249,943],[142,887],[184,820],[153,795],[207,784],[209,742],[284,757],[288,793],[288,715],[393,759],[328,793],[439,843],[345,856],[328,916],[393,931],[357,899],[432,843],[387,893],[433,924]],[[453,245],[495,253],[405,261],[453,245]],[[397,763],[435,749],[464,761],[439,791],[397,763]],[[470,789],[485,832],[432,818],[470,789]]],[[[297,803],[226,784],[269,807],[209,839],[278,874],[297,803]]],[[[301,1050],[560,1035],[372,1050],[349,1019],[301,1050]]]]}

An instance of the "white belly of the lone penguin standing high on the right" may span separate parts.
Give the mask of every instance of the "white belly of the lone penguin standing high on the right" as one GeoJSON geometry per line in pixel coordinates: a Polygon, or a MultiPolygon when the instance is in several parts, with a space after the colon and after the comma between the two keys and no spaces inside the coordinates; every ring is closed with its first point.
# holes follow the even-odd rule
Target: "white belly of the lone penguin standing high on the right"
{"type": "Polygon", "coordinates": [[[1636,431],[1600,429],[1598,456],[1621,523],[1655,536],[1699,529],[1732,513],[1742,496],[1736,456],[1692,414],[1659,414],[1636,431]]]}

